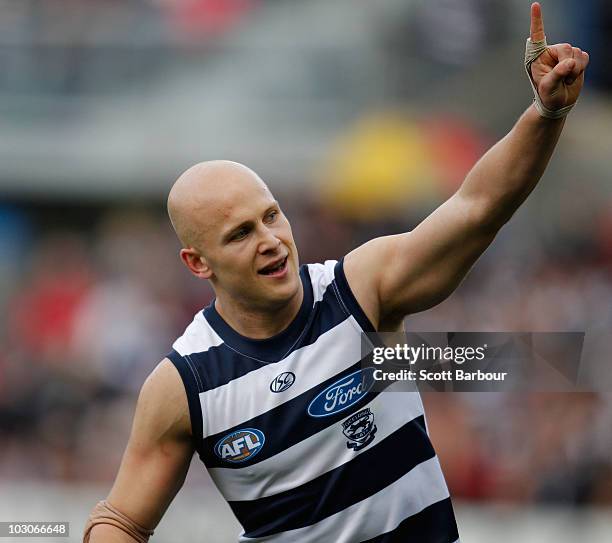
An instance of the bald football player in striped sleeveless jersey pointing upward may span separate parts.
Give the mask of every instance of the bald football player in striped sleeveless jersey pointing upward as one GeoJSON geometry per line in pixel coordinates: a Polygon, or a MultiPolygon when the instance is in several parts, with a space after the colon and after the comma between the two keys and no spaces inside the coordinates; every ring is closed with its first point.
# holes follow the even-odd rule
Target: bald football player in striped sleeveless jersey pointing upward
{"type": "Polygon", "coordinates": [[[458,192],[338,263],[299,267],[287,218],[245,166],[202,163],[177,180],[180,257],[216,299],[145,382],[86,539],[146,541],[197,451],[241,541],[458,540],[420,399],[363,386],[360,336],[446,298],[541,177],[588,55],[546,47],[535,3],[525,63],[534,105],[458,192]]]}

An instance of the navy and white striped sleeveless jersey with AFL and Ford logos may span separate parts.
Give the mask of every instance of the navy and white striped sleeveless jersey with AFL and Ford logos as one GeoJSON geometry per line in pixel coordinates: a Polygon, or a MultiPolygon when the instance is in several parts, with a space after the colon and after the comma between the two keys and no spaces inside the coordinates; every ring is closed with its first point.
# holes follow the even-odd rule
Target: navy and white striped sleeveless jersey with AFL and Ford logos
{"type": "Polygon", "coordinates": [[[300,276],[302,306],[280,334],[241,336],[211,304],[168,355],[240,541],[457,541],[418,392],[367,384],[362,334],[374,329],[343,261],[300,276]]]}

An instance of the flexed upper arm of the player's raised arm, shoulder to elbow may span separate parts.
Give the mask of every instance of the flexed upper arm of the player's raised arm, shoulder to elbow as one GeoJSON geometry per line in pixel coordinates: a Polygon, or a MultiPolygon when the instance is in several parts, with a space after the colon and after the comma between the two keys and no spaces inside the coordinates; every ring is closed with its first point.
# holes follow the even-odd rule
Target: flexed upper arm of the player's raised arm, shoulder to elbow
{"type": "Polygon", "coordinates": [[[482,224],[477,204],[457,193],[414,230],[355,249],[347,278],[378,322],[428,309],[458,286],[495,237],[482,224]]]}

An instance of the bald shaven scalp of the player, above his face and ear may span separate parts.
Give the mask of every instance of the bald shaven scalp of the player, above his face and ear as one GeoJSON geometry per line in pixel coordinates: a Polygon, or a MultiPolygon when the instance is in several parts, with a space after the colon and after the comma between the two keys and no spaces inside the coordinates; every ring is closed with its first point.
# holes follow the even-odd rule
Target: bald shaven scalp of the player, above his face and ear
{"type": "Polygon", "coordinates": [[[198,247],[203,231],[229,217],[231,204],[250,191],[269,192],[250,168],[229,160],[195,164],[176,180],[168,195],[168,215],[184,247],[198,247]]]}

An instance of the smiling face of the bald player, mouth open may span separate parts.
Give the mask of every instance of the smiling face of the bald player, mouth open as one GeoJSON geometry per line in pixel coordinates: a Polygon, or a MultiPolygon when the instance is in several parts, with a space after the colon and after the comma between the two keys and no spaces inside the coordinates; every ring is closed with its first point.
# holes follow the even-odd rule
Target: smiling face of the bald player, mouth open
{"type": "Polygon", "coordinates": [[[300,288],[289,221],[263,183],[227,187],[208,207],[202,254],[217,297],[240,305],[278,307],[300,288]]]}

